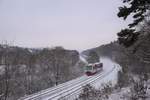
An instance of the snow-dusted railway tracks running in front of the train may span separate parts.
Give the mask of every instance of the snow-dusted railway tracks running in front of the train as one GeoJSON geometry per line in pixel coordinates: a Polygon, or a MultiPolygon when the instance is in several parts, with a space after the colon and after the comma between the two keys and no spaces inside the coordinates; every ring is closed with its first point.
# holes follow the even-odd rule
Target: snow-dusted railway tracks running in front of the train
{"type": "Polygon", "coordinates": [[[56,87],[20,98],[19,100],[58,100],[60,98],[67,98],[73,95],[74,93],[79,94],[82,89],[82,86],[94,83],[96,80],[99,80],[111,73],[114,69],[115,67],[113,67],[112,70],[110,70],[109,72],[103,71],[99,74],[96,74],[95,76],[82,76],[72,81],[60,84],[56,87]]]}

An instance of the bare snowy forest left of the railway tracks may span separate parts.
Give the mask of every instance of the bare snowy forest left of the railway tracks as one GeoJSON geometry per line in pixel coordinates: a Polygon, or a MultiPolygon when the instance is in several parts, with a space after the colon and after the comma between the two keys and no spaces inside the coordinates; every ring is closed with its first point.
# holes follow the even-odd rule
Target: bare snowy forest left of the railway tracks
{"type": "Polygon", "coordinates": [[[75,50],[0,45],[0,99],[16,100],[69,81],[83,74],[83,65],[75,50]]]}

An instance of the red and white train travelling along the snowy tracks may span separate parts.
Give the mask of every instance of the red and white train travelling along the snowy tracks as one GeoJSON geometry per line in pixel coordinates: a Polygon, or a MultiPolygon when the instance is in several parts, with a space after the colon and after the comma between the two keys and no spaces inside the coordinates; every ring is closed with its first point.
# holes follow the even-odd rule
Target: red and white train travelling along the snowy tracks
{"type": "Polygon", "coordinates": [[[103,70],[103,63],[88,64],[85,66],[85,74],[87,76],[94,75],[103,70]]]}

